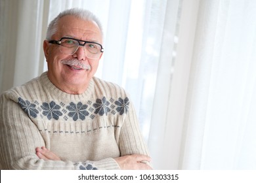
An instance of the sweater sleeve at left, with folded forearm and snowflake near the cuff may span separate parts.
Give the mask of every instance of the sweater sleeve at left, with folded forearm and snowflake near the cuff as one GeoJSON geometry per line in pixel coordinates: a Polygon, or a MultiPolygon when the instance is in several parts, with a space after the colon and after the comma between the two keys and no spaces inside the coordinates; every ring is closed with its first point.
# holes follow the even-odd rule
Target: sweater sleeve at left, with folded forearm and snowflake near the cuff
{"type": "Polygon", "coordinates": [[[113,158],[45,161],[35,154],[39,146],[45,146],[45,141],[37,126],[7,93],[3,93],[0,97],[0,169],[119,169],[113,158]]]}

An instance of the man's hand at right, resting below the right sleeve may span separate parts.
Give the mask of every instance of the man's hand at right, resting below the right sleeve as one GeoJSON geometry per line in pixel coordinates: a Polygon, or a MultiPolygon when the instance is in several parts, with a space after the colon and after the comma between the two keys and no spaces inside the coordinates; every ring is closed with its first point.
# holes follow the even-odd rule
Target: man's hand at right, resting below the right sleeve
{"type": "Polygon", "coordinates": [[[151,161],[151,158],[145,155],[133,154],[114,158],[122,170],[152,170],[145,162],[151,161]]]}

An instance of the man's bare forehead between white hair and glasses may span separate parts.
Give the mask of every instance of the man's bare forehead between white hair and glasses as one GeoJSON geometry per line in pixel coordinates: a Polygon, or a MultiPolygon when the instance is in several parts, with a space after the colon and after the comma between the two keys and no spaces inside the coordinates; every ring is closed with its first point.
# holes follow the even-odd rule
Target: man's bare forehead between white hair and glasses
{"type": "Polygon", "coordinates": [[[76,39],[87,41],[102,41],[100,28],[95,22],[83,20],[75,16],[63,16],[58,21],[56,36],[58,39],[71,36],[76,39]]]}

